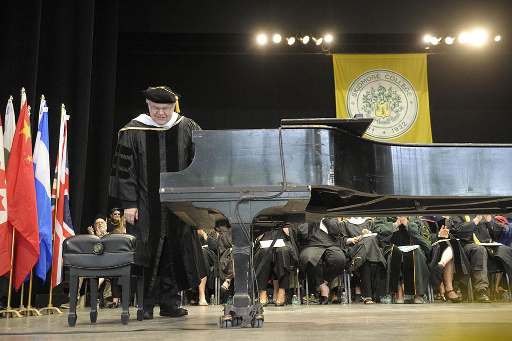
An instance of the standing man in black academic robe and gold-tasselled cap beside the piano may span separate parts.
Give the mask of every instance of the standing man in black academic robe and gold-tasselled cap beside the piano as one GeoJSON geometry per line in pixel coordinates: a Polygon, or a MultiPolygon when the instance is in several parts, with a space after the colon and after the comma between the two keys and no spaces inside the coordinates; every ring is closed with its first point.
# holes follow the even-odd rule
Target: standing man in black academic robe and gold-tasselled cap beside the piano
{"type": "Polygon", "coordinates": [[[153,318],[158,286],[160,315],[178,317],[187,314],[179,307],[179,291],[197,287],[207,269],[197,232],[160,202],[160,173],[182,171],[191,163],[192,131],[201,128],[178,114],[179,95],[168,87],[142,93],[150,113],[119,131],[110,195],[122,201],[126,232],[152,247],[151,265],[145,272],[144,318],[153,318]]]}

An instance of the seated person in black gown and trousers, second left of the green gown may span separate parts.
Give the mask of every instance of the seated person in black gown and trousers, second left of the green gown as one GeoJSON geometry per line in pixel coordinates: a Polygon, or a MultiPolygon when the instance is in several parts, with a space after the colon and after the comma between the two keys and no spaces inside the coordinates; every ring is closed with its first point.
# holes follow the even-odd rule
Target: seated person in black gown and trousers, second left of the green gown
{"type": "Polygon", "coordinates": [[[320,290],[320,304],[329,302],[328,284],[343,273],[347,260],[340,247],[341,226],[337,219],[324,218],[317,223],[302,224],[290,229],[292,238],[300,245],[298,255],[301,271],[320,290]]]}

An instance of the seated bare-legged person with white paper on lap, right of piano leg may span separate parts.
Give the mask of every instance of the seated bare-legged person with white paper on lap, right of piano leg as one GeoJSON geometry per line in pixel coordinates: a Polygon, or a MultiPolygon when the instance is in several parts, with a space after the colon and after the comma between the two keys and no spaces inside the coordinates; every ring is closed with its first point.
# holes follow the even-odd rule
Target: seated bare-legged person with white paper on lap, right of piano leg
{"type": "Polygon", "coordinates": [[[290,272],[296,269],[298,264],[298,247],[295,240],[290,239],[290,231],[288,227],[273,229],[263,233],[254,245],[254,268],[261,266],[260,272],[257,274],[258,289],[260,293],[260,303],[263,306],[268,304],[267,282],[269,279],[274,280],[274,284],[278,284],[279,289],[277,295],[274,296],[274,305],[282,307],[285,305],[285,290],[290,287],[290,272]],[[268,248],[261,247],[260,241],[272,241],[282,239],[285,246],[273,247],[265,262],[262,264],[268,248]]]}

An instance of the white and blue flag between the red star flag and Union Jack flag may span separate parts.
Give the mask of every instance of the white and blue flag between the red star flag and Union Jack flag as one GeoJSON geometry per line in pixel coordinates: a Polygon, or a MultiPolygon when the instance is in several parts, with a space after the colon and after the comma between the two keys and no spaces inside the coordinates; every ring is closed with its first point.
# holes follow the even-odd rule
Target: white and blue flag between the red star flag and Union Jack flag
{"type": "Polygon", "coordinates": [[[50,199],[50,153],[48,143],[48,106],[41,99],[39,126],[34,145],[34,178],[39,221],[39,259],[35,274],[46,281],[46,274],[52,265],[52,203],[50,199]]]}

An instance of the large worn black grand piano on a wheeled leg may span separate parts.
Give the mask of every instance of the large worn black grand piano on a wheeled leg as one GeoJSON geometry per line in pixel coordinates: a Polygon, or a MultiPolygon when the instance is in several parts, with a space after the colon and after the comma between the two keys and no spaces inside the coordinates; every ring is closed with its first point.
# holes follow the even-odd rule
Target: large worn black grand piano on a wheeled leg
{"type": "Polygon", "coordinates": [[[231,228],[235,292],[222,327],[232,316],[263,324],[252,295],[251,227],[511,214],[512,170],[502,160],[512,160],[512,145],[379,142],[362,137],[371,121],[284,119],[279,129],[195,131],[194,161],[161,174],[160,199],[185,223],[231,228]]]}

